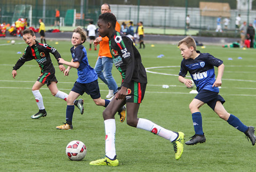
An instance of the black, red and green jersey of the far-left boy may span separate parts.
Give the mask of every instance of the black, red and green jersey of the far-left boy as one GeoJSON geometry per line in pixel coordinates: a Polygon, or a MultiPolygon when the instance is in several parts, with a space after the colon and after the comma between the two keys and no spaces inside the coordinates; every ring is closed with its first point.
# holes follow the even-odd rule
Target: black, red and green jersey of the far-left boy
{"type": "Polygon", "coordinates": [[[26,47],[25,52],[14,65],[13,70],[18,70],[26,61],[35,59],[41,68],[41,73],[54,73],[55,69],[52,64],[50,53],[52,53],[57,60],[61,58],[55,48],[48,44],[41,44],[36,41],[35,45],[26,47]]]}

